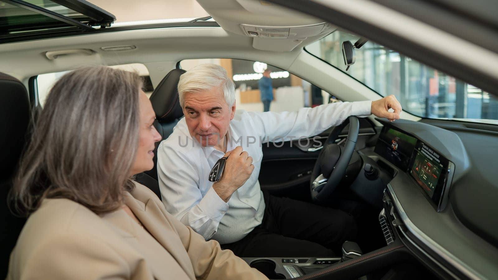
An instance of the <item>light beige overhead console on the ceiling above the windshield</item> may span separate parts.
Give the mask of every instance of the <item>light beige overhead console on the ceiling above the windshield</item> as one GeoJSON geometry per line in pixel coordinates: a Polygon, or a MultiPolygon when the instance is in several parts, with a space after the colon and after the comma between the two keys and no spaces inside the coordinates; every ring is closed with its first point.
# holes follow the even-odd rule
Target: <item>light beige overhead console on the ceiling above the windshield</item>
{"type": "Polygon", "coordinates": [[[252,38],[252,47],[292,51],[312,43],[337,27],[295,10],[253,0],[197,0],[226,31],[252,38]]]}

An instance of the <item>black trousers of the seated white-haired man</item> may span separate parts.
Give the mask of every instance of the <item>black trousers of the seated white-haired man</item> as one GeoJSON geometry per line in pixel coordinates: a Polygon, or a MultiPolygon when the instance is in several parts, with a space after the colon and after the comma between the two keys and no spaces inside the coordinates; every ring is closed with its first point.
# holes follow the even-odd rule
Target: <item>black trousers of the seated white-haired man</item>
{"type": "Polygon", "coordinates": [[[223,249],[239,257],[337,257],[344,241],[356,238],[357,226],[346,212],[263,191],[261,225],[223,249]]]}

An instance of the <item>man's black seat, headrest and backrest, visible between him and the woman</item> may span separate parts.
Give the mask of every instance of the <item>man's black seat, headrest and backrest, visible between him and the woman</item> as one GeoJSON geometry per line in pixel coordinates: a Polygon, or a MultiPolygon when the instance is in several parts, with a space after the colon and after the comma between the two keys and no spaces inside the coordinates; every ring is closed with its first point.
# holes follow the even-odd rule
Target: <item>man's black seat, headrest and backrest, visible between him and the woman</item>
{"type": "MultiPolygon", "coordinates": [[[[156,114],[156,121],[154,126],[157,132],[166,139],[173,132],[173,128],[178,121],[183,117],[183,110],[180,106],[180,98],[178,96],[178,81],[180,75],[185,73],[182,69],[171,70],[157,85],[154,92],[150,95],[150,102],[156,114]]],[[[157,146],[154,149],[154,168],[136,175],[136,181],[147,186],[159,198],[161,193],[159,191],[159,182],[157,180],[157,146]]]]}

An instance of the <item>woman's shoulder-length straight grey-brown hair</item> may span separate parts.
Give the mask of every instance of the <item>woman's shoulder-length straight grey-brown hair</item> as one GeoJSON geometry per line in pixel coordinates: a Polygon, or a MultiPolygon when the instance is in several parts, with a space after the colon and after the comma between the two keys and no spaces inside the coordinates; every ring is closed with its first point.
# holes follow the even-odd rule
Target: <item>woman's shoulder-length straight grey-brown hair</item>
{"type": "Polygon", "coordinates": [[[11,192],[17,213],[28,215],[44,198],[67,198],[97,214],[121,207],[134,187],[130,169],[138,147],[136,73],[84,67],[50,90],[11,192]]]}

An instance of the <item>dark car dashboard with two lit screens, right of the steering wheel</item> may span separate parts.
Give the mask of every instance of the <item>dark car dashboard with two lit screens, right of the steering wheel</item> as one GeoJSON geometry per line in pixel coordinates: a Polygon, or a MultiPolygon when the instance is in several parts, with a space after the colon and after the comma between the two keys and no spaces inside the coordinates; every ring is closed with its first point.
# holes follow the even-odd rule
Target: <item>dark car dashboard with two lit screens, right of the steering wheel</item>
{"type": "Polygon", "coordinates": [[[359,152],[387,174],[382,213],[394,238],[451,278],[498,279],[498,129],[377,121],[377,141],[359,152]]]}

